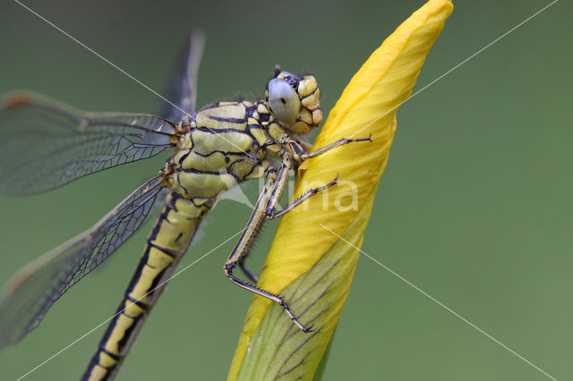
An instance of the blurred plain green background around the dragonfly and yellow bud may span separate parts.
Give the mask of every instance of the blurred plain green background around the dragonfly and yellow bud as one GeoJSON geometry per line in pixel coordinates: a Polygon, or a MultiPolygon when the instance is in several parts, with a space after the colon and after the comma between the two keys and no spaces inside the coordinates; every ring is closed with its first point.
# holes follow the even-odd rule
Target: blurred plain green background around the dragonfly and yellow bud
{"type": "MultiPolygon", "coordinates": [[[[275,63],[312,71],[325,112],[347,81],[423,1],[25,2],[126,72],[163,91],[190,30],[207,32],[198,104],[261,96],[275,63]]],[[[548,1],[457,1],[415,89],[548,1]]],[[[573,377],[573,6],[560,1],[476,55],[398,113],[363,250],[553,377],[573,377]]],[[[0,5],[0,91],[32,89],[91,111],[154,112],[147,89],[21,5],[0,5]]],[[[22,152],[26,155],[26,152],[22,152]]],[[[115,168],[26,199],[0,197],[0,281],[90,227],[166,157],[115,168]]],[[[17,170],[17,168],[14,168],[17,170]]],[[[249,187],[254,195],[256,186],[249,187]]],[[[183,265],[244,226],[216,207],[183,265]]],[[[260,267],[276,224],[251,264],[260,267]]],[[[304,226],[301,226],[304,229],[304,226]]],[[[56,302],[37,330],[0,353],[13,379],[115,311],[147,224],[101,271],[56,302]]],[[[251,295],[227,281],[228,242],[179,275],[119,380],[222,379],[251,295]]],[[[77,379],[102,326],[30,374],[77,379]]],[[[538,380],[535,368],[362,257],[327,380],[538,380]]]]}

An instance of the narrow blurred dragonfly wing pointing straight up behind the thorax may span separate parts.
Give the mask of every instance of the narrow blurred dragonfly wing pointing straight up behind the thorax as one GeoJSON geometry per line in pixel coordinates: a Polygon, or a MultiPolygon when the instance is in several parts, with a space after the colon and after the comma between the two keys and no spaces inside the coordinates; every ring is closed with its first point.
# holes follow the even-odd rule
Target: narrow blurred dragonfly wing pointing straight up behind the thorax
{"type": "Polygon", "coordinates": [[[174,72],[169,77],[167,100],[159,108],[159,115],[172,121],[181,121],[187,114],[195,111],[197,97],[197,72],[201,55],[205,47],[205,34],[200,30],[192,32],[187,38],[185,48],[179,55],[174,72]]]}

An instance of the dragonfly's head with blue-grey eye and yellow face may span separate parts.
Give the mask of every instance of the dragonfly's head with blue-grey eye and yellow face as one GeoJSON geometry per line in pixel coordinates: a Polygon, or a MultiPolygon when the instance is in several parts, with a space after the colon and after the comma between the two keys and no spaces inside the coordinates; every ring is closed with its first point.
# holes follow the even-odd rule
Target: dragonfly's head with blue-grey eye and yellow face
{"type": "Polygon", "coordinates": [[[267,84],[265,99],[269,110],[288,130],[304,135],[321,123],[321,90],[312,75],[295,75],[275,66],[267,84]]]}

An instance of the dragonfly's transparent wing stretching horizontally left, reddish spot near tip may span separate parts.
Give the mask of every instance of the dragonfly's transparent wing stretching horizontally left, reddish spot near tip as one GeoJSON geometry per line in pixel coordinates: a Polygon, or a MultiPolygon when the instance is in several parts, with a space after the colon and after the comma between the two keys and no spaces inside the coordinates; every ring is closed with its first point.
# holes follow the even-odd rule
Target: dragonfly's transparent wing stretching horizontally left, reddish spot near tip
{"type": "Polygon", "coordinates": [[[0,108],[0,192],[33,194],[171,147],[175,125],[147,114],[84,113],[30,93],[0,108]]]}

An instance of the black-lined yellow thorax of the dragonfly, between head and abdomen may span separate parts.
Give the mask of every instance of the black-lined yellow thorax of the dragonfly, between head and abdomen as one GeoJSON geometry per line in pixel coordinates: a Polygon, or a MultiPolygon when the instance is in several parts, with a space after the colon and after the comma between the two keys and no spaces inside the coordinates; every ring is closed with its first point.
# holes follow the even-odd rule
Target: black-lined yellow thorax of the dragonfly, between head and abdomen
{"type": "Polygon", "coordinates": [[[218,102],[180,123],[174,155],[164,169],[167,187],[199,203],[264,176],[265,158],[281,149],[269,130],[286,133],[276,123],[280,131],[272,128],[264,104],[218,102]]]}

